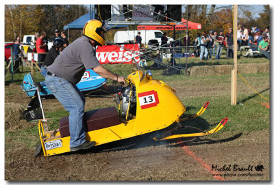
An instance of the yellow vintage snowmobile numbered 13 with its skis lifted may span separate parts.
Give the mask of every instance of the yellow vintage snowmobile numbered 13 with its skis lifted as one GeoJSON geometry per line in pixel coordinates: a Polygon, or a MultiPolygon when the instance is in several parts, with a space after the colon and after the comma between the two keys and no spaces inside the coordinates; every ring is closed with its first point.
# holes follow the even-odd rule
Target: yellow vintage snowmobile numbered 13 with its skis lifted
{"type": "MultiPolygon", "coordinates": [[[[118,104],[117,109],[112,106],[87,111],[84,115],[86,140],[96,141],[95,146],[161,130],[164,130],[164,134],[154,137],[155,141],[201,137],[218,132],[227,122],[225,118],[209,131],[171,134],[171,130],[184,128],[181,122],[198,117],[206,111],[208,102],[195,115],[182,118],[186,108],[176,96],[175,90],[166,83],[153,79],[151,71],[137,70],[129,74],[127,85],[121,87],[121,91],[115,95],[115,101],[118,104]],[[171,130],[168,127],[172,127],[171,130]]],[[[38,128],[41,145],[36,148],[35,156],[38,156],[41,150],[44,156],[71,152],[69,117],[60,119],[58,130],[48,131],[47,126],[43,124],[44,120],[40,119],[38,128]]]]}

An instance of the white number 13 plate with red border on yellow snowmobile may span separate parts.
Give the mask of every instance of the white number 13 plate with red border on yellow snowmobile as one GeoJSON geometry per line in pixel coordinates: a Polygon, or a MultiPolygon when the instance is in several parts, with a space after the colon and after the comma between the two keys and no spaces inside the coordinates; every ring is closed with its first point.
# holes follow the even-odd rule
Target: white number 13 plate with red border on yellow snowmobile
{"type": "Polygon", "coordinates": [[[138,94],[141,109],[157,106],[159,98],[157,91],[147,91],[138,94]]]}

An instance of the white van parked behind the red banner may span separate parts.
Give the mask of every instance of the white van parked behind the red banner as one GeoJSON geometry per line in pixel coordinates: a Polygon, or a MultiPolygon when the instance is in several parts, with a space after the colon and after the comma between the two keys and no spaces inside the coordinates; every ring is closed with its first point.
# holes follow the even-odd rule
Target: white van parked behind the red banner
{"type": "MultiPolygon", "coordinates": [[[[129,30],[129,31],[116,31],[114,35],[114,43],[128,43],[134,42],[136,35],[140,31],[140,36],[142,38],[142,44],[148,45],[149,40],[158,40],[159,45],[161,45],[161,38],[164,33],[160,30],[129,30]]],[[[169,39],[168,44],[173,41],[173,38],[167,37],[169,39]]]]}

